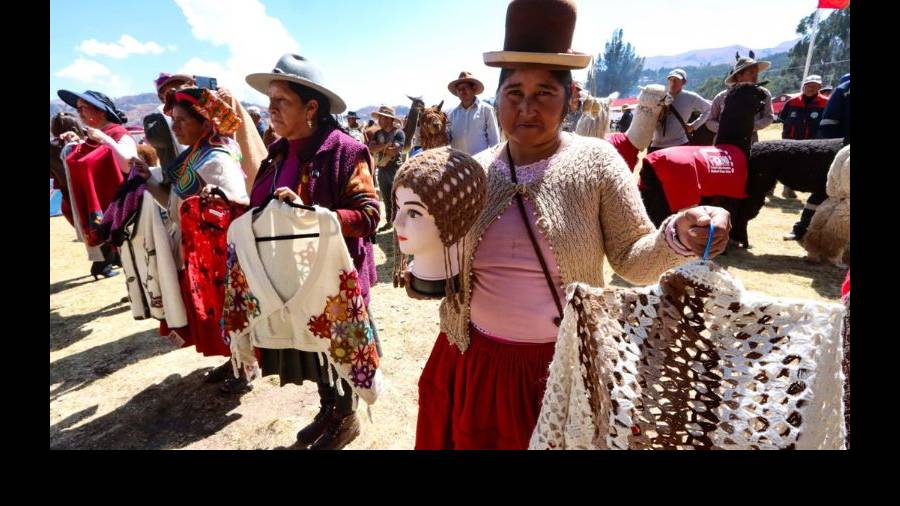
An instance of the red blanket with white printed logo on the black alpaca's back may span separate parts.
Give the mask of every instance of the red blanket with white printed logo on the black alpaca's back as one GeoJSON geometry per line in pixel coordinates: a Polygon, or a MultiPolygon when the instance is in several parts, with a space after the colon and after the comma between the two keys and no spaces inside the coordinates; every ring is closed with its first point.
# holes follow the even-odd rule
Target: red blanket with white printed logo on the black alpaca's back
{"type": "Polygon", "coordinates": [[[653,166],[673,212],[700,204],[701,197],[747,198],[747,157],[737,146],[679,146],[644,159],[653,166]]]}

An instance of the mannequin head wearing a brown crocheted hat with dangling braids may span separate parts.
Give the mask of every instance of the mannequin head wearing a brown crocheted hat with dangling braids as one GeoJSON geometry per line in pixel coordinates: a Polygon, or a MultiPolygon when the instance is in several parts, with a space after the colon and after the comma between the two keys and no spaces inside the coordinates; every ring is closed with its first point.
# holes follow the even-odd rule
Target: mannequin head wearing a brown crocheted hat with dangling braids
{"type": "Polygon", "coordinates": [[[487,177],[469,155],[449,146],[407,161],[394,178],[394,285],[403,285],[406,258],[411,288],[442,296],[459,289],[459,241],[484,208],[487,177]]]}

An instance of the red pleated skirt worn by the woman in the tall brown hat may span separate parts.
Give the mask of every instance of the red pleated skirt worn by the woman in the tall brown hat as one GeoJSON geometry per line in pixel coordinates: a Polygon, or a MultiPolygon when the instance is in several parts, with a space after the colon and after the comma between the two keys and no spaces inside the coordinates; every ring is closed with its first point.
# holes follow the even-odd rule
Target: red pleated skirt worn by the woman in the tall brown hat
{"type": "Polygon", "coordinates": [[[507,344],[475,329],[463,354],[441,333],[419,378],[417,450],[525,450],[555,343],[507,344]]]}

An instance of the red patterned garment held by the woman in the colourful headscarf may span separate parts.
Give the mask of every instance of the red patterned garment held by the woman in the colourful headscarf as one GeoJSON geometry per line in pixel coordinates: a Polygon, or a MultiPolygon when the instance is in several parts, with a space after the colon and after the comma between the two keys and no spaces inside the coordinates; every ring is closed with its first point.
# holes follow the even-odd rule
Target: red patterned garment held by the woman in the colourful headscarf
{"type": "Polygon", "coordinates": [[[220,327],[225,303],[226,235],[231,222],[246,209],[206,197],[190,197],[179,209],[186,285],[182,293],[190,333],[190,339],[185,340],[204,356],[231,356],[220,327]]]}

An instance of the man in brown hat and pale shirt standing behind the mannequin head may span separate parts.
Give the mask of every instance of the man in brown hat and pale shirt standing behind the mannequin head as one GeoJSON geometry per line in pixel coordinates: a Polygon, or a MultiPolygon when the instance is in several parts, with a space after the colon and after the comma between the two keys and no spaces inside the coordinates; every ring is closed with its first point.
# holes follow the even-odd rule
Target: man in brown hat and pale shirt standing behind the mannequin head
{"type": "Polygon", "coordinates": [[[484,92],[484,84],[469,72],[460,72],[459,79],[447,85],[459,106],[447,113],[450,122],[450,146],[466,154],[474,155],[500,142],[494,108],[478,99],[484,92]]]}

